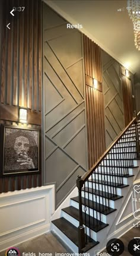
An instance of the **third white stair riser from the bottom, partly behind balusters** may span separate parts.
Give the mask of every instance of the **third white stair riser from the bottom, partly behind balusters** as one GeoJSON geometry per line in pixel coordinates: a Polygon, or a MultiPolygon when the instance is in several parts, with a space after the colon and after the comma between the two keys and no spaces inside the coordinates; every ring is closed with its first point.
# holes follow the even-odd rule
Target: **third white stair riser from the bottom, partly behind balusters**
{"type": "MultiPolygon", "coordinates": [[[[79,203],[74,201],[74,200],[71,200],[71,206],[79,209],[79,203]]],[[[82,211],[84,211],[84,205],[82,206],[82,211]]],[[[88,214],[89,213],[89,208],[87,207],[87,211],[86,213],[88,214]]],[[[93,209],[90,208],[90,215],[93,217],[93,209]]],[[[94,210],[94,218],[100,220],[100,217],[101,217],[101,222],[104,222],[106,224],[110,224],[112,223],[112,219],[114,218],[114,215],[115,215],[115,211],[113,211],[113,213],[110,213],[108,215],[105,215],[103,213],[99,213],[98,211],[94,210]]]]}

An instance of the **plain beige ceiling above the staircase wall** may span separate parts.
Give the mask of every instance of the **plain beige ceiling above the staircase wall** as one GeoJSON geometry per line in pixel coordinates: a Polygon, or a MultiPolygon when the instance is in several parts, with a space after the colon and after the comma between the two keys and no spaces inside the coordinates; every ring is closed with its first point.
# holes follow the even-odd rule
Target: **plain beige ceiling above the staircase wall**
{"type": "MultiPolygon", "coordinates": [[[[127,1],[44,0],[72,24],[82,24],[83,33],[129,70],[140,76],[140,51],[135,48],[133,24],[127,1]],[[117,11],[121,9],[121,11],[117,11]]],[[[139,10],[140,11],[140,10],[139,10]]]]}

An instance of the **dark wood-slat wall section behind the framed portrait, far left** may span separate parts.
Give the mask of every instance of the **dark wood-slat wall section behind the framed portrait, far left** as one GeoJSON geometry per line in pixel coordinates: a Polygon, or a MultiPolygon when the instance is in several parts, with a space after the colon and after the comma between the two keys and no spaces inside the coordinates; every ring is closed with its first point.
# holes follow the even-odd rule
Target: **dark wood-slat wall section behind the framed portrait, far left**
{"type": "MultiPolygon", "coordinates": [[[[20,125],[18,108],[28,109],[28,127],[40,127],[42,110],[42,19],[40,0],[0,2],[0,121],[20,125]],[[10,14],[12,7],[24,11],[10,14]],[[9,24],[10,30],[7,28],[9,24]],[[12,113],[12,115],[11,115],[12,113]]],[[[0,192],[41,185],[41,175],[0,179],[0,192]]]]}

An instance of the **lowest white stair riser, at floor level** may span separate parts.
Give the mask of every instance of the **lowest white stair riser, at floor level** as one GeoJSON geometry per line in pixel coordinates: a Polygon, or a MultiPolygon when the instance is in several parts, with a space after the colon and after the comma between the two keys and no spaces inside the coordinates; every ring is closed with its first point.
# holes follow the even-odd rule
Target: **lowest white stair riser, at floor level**
{"type": "Polygon", "coordinates": [[[58,227],[53,225],[53,223],[52,230],[75,254],[78,254],[78,246],[75,245],[69,238],[67,238],[67,236],[65,236],[65,234],[60,229],[58,229],[58,227]]]}

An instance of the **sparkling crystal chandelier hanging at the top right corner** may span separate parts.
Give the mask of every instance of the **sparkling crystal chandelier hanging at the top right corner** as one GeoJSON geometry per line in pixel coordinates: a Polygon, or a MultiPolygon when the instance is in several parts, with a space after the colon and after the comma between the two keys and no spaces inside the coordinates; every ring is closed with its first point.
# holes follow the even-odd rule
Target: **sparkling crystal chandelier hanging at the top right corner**
{"type": "Polygon", "coordinates": [[[128,14],[133,23],[134,42],[136,49],[140,50],[140,1],[128,0],[128,14]]]}

